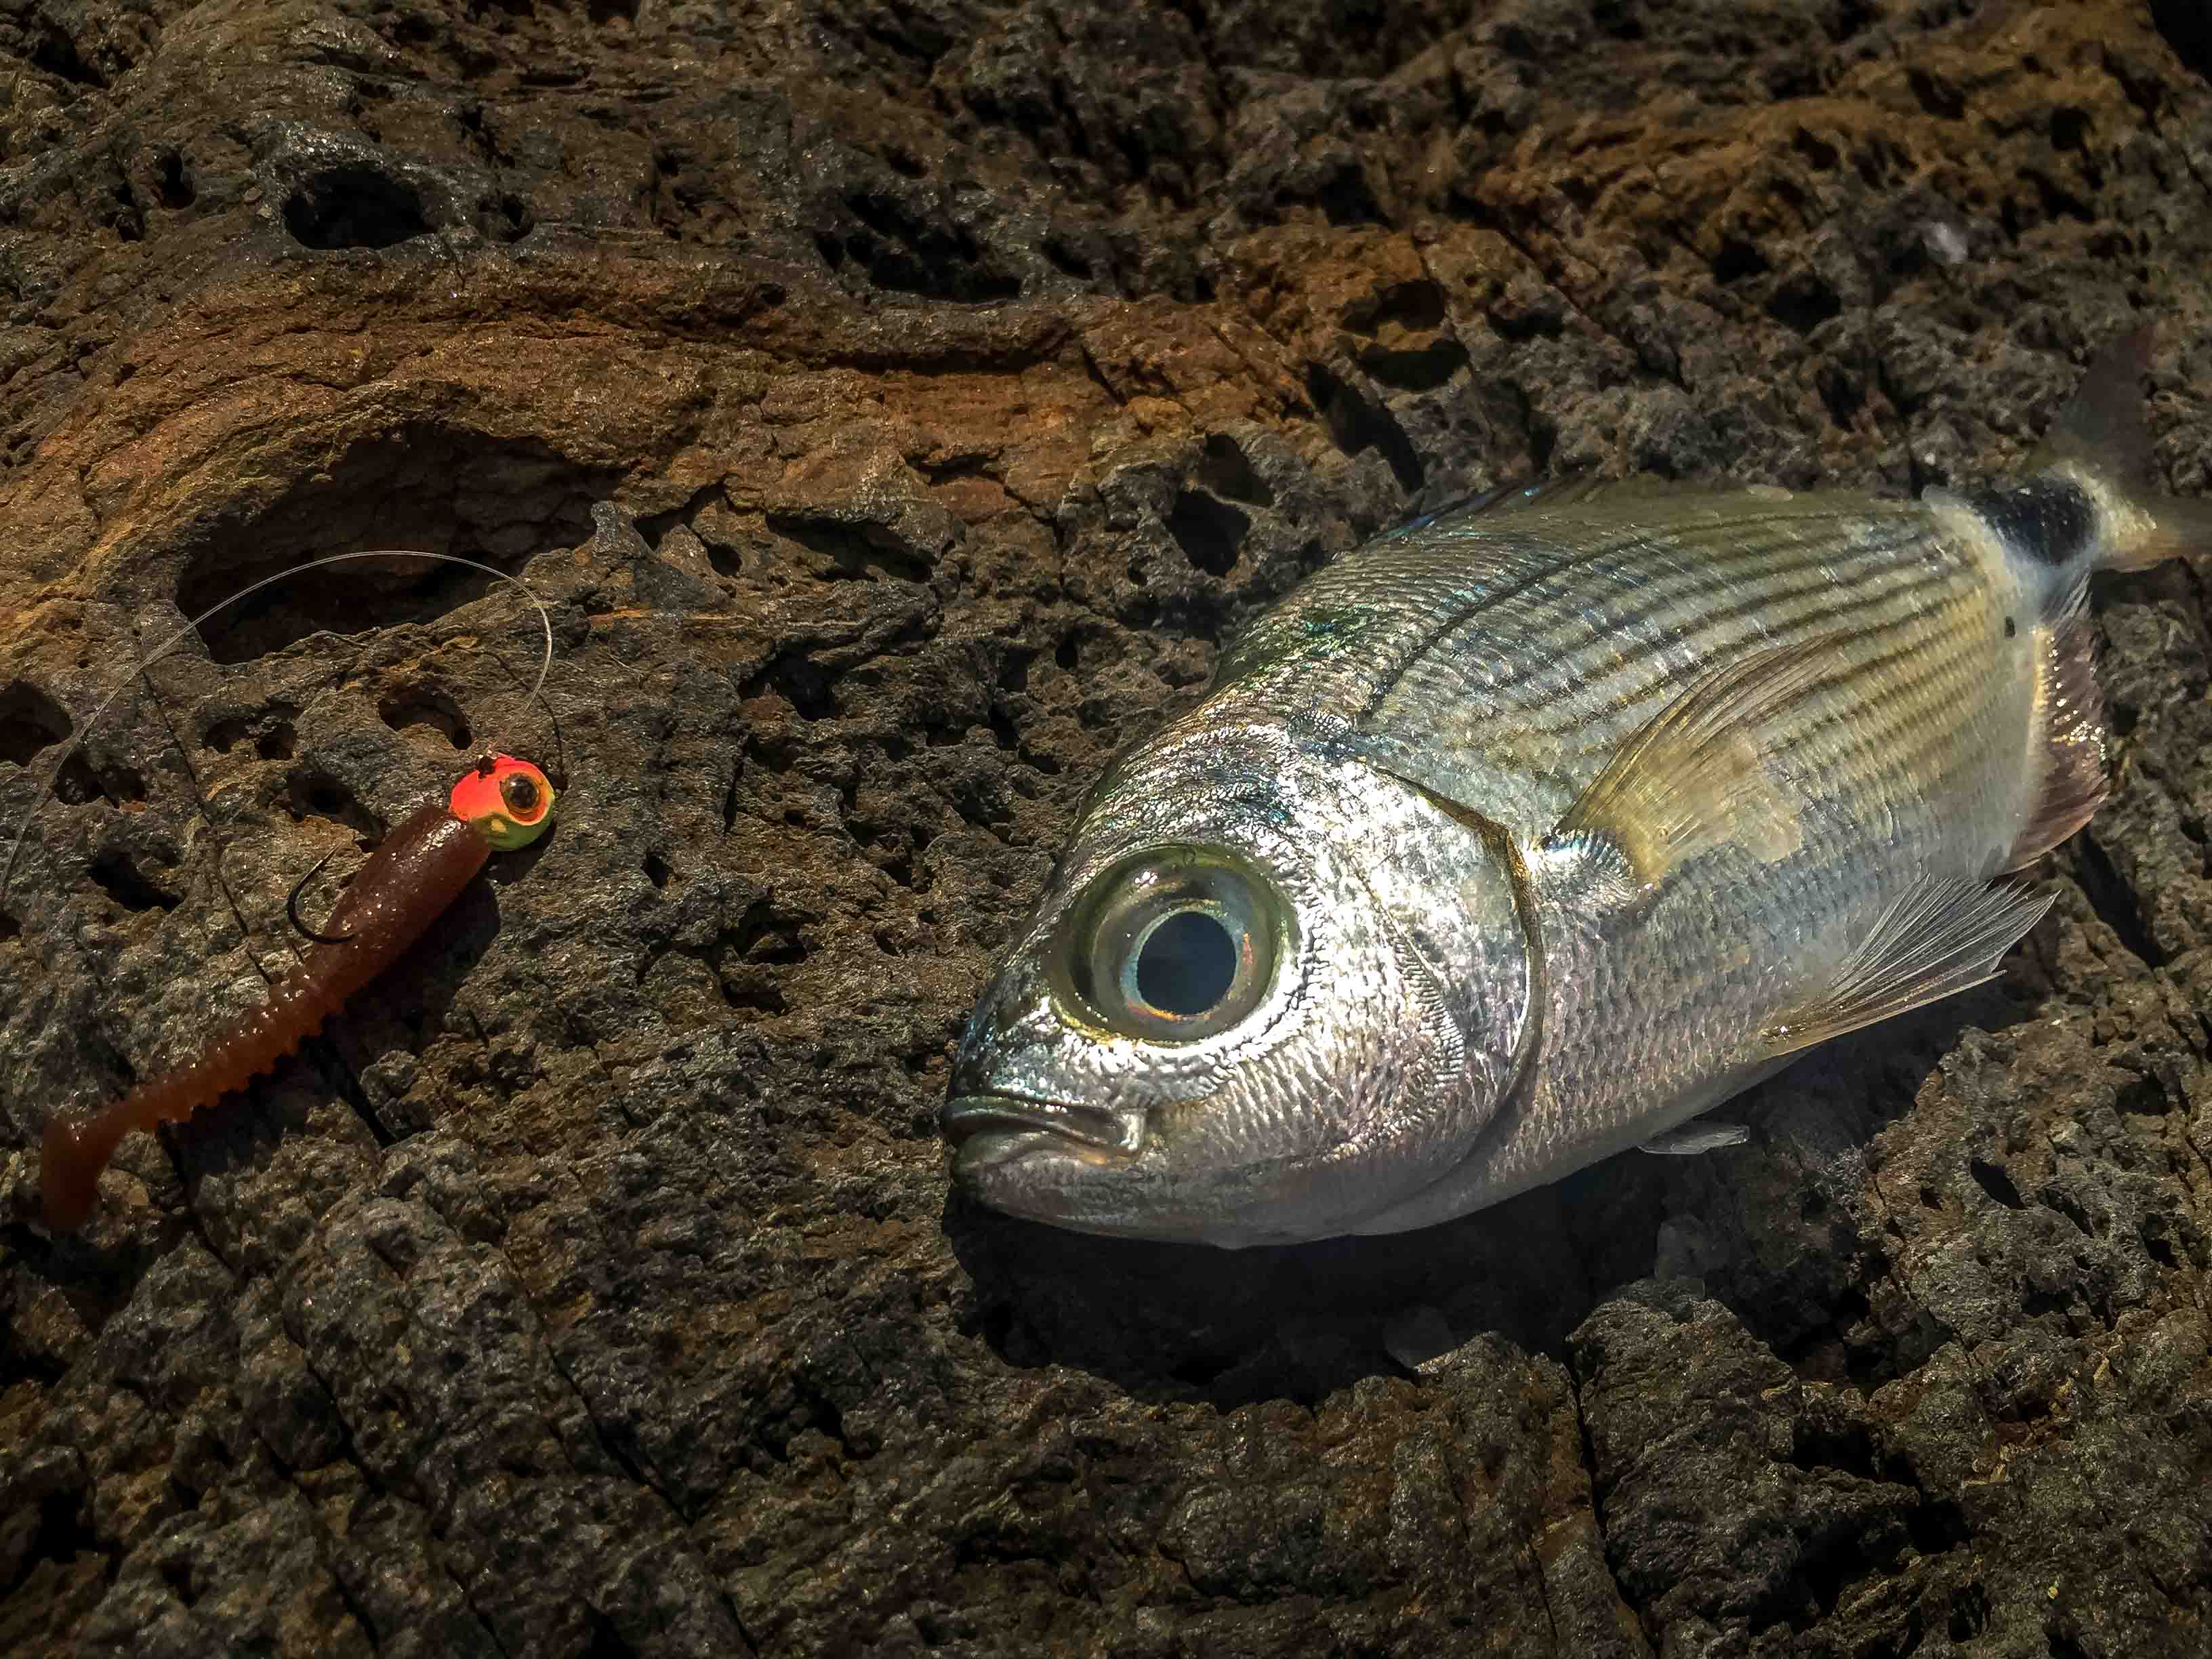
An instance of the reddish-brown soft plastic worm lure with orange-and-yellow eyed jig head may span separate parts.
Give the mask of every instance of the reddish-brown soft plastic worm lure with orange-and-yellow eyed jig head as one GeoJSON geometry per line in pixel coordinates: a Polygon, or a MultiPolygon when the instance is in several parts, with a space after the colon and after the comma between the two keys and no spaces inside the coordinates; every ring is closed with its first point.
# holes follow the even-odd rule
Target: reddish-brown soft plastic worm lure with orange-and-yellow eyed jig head
{"type": "Polygon", "coordinates": [[[414,945],[495,852],[531,845],[553,823],[553,785],[529,761],[491,754],[400,823],[369,854],[323,925],[332,938],[270,987],[268,1000],[210,1042],[199,1060],[84,1119],[55,1115],[40,1152],[49,1228],[80,1228],[100,1172],[135,1128],[150,1130],[212,1106],[314,1035],[354,991],[414,945]]]}

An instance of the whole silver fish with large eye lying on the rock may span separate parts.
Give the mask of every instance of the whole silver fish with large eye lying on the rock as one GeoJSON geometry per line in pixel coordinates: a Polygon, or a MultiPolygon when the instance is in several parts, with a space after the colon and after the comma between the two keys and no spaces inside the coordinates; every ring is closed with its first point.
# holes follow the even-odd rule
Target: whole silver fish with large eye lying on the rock
{"type": "Polygon", "coordinates": [[[2090,571],[2152,495],[2148,336],[2024,480],[1562,487],[1347,555],[1099,781],[953,1064],[984,1203],[1400,1232],[1690,1124],[1997,973],[2106,794],[2090,571]]]}

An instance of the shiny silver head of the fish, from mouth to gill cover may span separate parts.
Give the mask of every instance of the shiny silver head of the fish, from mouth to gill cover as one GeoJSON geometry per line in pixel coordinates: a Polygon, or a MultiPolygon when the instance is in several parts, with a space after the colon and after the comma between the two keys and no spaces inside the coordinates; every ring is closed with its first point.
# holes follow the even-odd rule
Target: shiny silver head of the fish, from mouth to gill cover
{"type": "Polygon", "coordinates": [[[1281,728],[1183,721],[1108,770],[984,991],[953,1172],[1077,1232],[1347,1232],[1464,1155],[1526,987],[1511,876],[1464,825],[1281,728]],[[1436,905],[1498,958],[1467,995],[1409,927],[1436,905]]]}

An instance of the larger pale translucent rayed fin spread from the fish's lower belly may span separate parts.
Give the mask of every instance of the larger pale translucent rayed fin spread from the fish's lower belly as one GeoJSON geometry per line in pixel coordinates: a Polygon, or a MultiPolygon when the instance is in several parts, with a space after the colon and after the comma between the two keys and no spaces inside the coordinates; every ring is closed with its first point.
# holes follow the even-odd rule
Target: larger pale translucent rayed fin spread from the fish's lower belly
{"type": "Polygon", "coordinates": [[[1767,1055],[1812,1048],[1845,1031],[1971,991],[2051,909],[2015,885],[1924,876],[1845,958],[1827,993],[1761,1029],[1767,1055]]]}

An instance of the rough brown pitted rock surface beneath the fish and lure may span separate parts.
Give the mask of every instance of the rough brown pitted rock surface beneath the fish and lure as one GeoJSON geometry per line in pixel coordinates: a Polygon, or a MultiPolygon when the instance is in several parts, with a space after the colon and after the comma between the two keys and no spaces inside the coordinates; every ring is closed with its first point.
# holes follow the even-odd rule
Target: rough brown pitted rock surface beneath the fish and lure
{"type": "Polygon", "coordinates": [[[2163,325],[2188,0],[0,7],[0,1648],[2212,1652],[2205,562],[2002,987],[1750,1146],[1115,1248],[933,1113],[1088,776],[1363,535],[1544,469],[1909,489],[2163,325]],[[334,566],[181,617],[310,555],[334,566]],[[566,785],[84,1237],[465,752],[566,785]],[[327,902],[327,889],[325,889],[327,902]],[[307,914],[319,914],[310,894],[307,914]]]}

